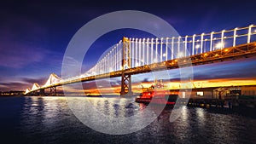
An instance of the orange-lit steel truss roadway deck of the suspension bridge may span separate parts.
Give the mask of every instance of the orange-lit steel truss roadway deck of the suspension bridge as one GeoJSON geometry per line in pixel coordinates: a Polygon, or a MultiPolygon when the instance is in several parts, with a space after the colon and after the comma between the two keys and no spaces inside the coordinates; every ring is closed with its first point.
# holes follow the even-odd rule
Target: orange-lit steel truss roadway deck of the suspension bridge
{"type": "Polygon", "coordinates": [[[139,73],[146,73],[146,72],[156,72],[156,71],[163,71],[167,69],[176,69],[186,66],[197,66],[197,65],[205,65],[211,64],[221,61],[227,60],[238,60],[241,58],[248,58],[256,56],[256,42],[253,43],[246,43],[237,45],[236,47],[218,49],[207,53],[202,53],[198,55],[192,55],[188,57],[183,57],[175,60],[166,60],[150,65],[145,66],[137,66],[133,68],[128,68],[121,71],[116,72],[108,72],[104,74],[99,74],[96,76],[90,76],[85,78],[77,78],[66,82],[61,82],[59,84],[52,84],[48,87],[41,87],[40,89],[48,89],[52,87],[61,86],[64,84],[75,84],[80,82],[87,82],[96,79],[103,79],[103,78],[115,78],[121,77],[122,72],[125,74],[139,74],[139,73]]]}

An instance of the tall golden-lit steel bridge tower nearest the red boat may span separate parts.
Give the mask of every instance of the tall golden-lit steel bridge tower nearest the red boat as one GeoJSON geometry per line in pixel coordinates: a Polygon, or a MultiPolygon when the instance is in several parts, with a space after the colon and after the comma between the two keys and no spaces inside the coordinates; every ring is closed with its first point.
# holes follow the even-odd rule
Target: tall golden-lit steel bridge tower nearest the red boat
{"type": "Polygon", "coordinates": [[[131,91],[131,74],[125,73],[126,68],[131,68],[130,45],[130,40],[127,37],[123,37],[122,79],[120,95],[133,94],[131,91]]]}

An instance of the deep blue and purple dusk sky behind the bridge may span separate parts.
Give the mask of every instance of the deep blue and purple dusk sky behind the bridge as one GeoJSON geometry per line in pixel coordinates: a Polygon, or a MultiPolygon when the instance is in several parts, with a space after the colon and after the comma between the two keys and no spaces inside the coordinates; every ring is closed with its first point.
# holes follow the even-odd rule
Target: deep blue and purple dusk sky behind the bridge
{"type": "MultiPolygon", "coordinates": [[[[1,1],[0,91],[26,89],[33,83],[43,85],[52,72],[61,76],[67,44],[81,26],[102,14],[118,10],[148,12],[166,20],[179,35],[185,36],[256,25],[255,5],[256,2],[251,0],[1,1]]],[[[143,32],[124,30],[99,38],[90,47],[84,71],[123,36],[144,35],[143,32]]],[[[195,80],[238,79],[236,83],[242,84],[256,79],[255,62],[255,58],[250,58],[195,66],[195,80]]]]}

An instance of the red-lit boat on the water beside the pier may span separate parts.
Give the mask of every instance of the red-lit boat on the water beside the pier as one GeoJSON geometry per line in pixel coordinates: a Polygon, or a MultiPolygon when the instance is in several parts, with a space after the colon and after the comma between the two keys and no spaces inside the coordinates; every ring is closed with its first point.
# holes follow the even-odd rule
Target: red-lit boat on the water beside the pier
{"type": "Polygon", "coordinates": [[[175,105],[177,101],[177,94],[171,94],[169,90],[165,89],[164,84],[160,80],[160,83],[155,80],[149,88],[143,88],[143,93],[136,98],[138,103],[154,103],[160,105],[175,105]]]}

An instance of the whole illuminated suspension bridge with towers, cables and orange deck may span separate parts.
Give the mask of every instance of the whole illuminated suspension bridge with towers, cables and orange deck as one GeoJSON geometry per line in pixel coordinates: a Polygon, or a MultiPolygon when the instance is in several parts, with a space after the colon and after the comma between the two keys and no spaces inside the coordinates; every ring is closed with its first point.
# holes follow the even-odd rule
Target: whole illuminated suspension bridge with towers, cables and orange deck
{"type": "Polygon", "coordinates": [[[25,95],[51,93],[64,84],[121,77],[120,95],[132,95],[131,75],[237,60],[256,55],[256,26],[185,37],[128,38],[109,49],[89,71],[61,79],[50,74],[43,86],[33,84],[25,95]]]}

